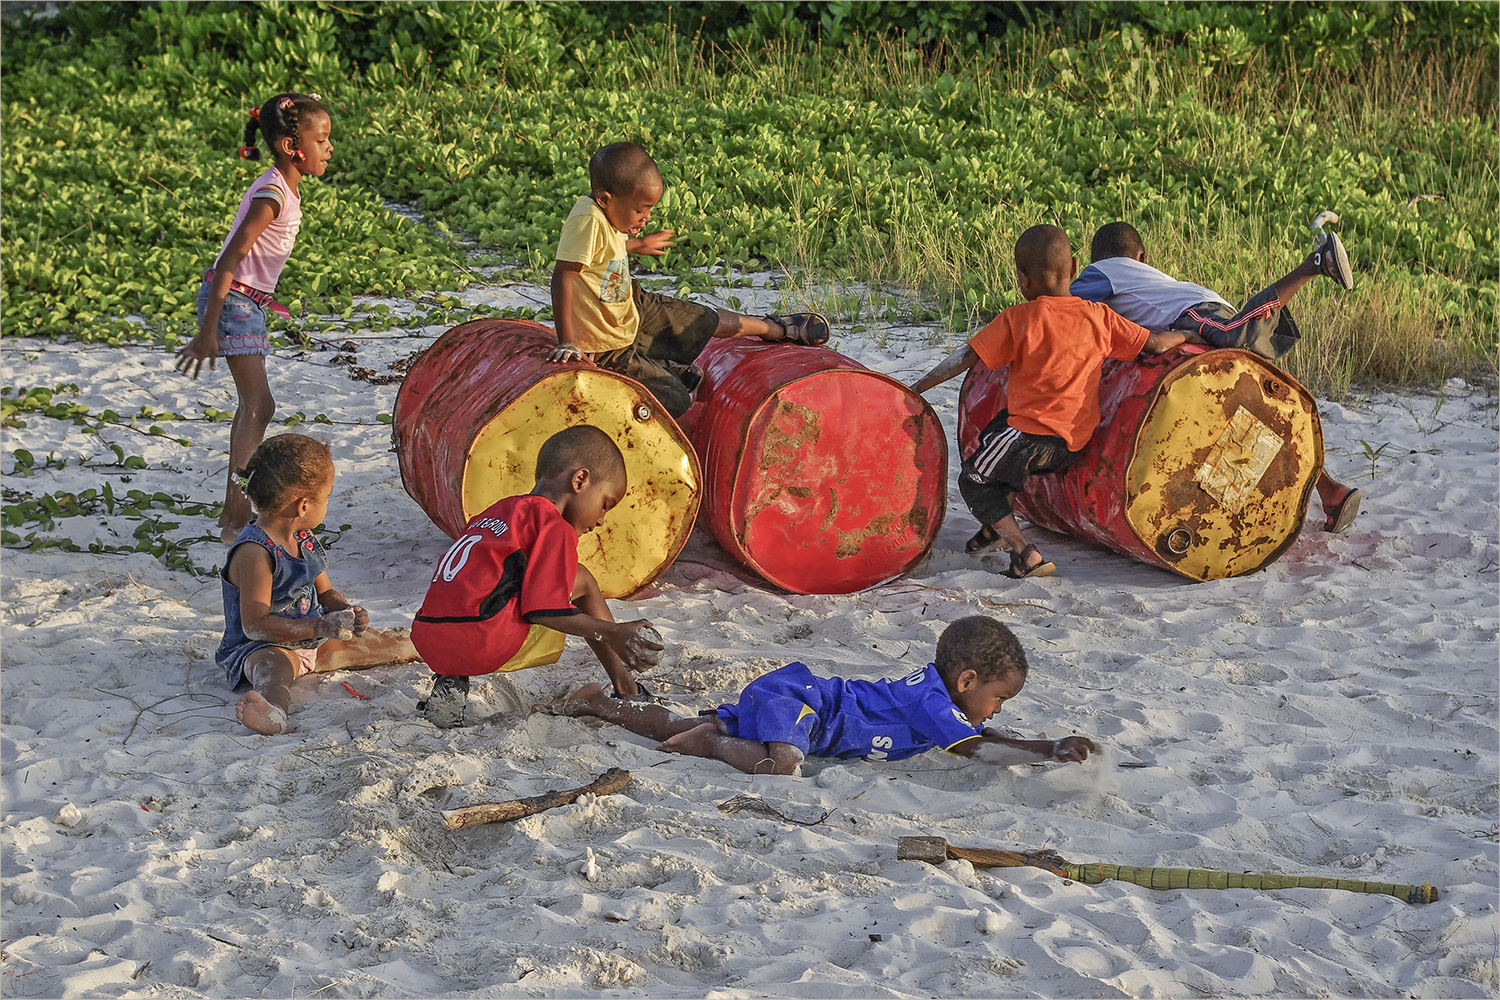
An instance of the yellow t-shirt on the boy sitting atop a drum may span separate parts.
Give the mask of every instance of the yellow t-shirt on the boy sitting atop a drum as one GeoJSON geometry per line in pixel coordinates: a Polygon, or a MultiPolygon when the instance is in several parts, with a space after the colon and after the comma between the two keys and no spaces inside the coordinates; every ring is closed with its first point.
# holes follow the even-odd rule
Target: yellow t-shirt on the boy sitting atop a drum
{"type": "Polygon", "coordinates": [[[579,198],[558,237],[560,261],[582,264],[573,289],[573,339],[585,354],[628,348],[640,313],[630,294],[626,234],[609,225],[592,198],[579,198]]]}

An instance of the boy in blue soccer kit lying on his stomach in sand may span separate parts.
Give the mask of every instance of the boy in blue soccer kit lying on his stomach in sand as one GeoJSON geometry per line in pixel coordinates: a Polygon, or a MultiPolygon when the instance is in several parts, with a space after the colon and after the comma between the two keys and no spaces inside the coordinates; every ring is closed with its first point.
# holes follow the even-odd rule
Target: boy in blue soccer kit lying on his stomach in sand
{"type": "Polygon", "coordinates": [[[933,748],[986,763],[1084,760],[1084,736],[1008,739],[984,729],[1026,682],[1026,652],[1005,625],[962,618],[938,639],[936,663],[896,681],[814,676],[790,663],[752,681],[738,705],[676,718],[660,705],[610,699],[590,684],[534,706],[549,715],[596,717],[658,750],[712,757],[747,774],[798,774],[813,757],[904,760],[933,748]]]}

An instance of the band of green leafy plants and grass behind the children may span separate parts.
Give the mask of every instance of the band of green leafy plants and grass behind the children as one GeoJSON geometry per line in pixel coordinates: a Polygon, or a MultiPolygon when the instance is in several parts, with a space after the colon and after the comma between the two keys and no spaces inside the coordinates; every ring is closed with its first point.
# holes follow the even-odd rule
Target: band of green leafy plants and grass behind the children
{"type": "Polygon", "coordinates": [[[678,288],[784,270],[843,324],[958,330],[1016,300],[1022,229],[1058,222],[1086,261],[1125,217],[1236,298],[1330,208],[1358,285],[1299,295],[1292,370],[1335,394],[1491,378],[1497,24],[1484,3],[78,4],[4,37],[0,330],[188,333],[262,169],[232,156],[244,112],[298,88],[333,106],[336,153],[279,292],[294,336],[477,267],[543,279],[588,154],[630,138],[678,232],[645,267],[678,288]]]}

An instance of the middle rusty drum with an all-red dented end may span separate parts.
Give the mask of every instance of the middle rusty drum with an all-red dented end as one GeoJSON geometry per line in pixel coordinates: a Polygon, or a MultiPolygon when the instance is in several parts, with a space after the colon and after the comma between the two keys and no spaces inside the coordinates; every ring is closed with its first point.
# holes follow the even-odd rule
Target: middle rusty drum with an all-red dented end
{"type": "Polygon", "coordinates": [[[824,348],[712,340],[684,426],[724,549],[794,594],[916,567],[942,526],[948,442],[927,402],[824,348]]]}

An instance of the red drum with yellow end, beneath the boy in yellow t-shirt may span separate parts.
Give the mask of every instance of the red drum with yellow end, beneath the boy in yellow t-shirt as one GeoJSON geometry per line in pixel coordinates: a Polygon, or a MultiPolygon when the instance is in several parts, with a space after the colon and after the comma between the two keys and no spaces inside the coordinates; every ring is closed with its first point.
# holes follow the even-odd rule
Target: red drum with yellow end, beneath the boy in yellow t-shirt
{"type": "Polygon", "coordinates": [[[450,537],[486,507],[530,493],[537,451],[558,430],[594,424],[620,445],[628,480],[578,558],[604,597],[658,577],[693,532],[702,472],[687,436],[644,385],[591,364],[552,364],[556,334],[536,322],[453,327],[396,394],[400,481],[450,537]]]}

